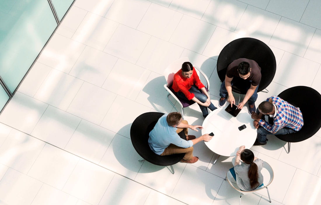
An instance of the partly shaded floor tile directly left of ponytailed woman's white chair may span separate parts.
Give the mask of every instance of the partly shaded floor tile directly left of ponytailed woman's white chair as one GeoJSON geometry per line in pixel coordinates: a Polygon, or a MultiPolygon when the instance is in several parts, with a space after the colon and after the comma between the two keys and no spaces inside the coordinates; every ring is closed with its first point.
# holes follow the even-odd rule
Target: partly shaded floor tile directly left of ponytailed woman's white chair
{"type": "Polygon", "coordinates": [[[218,176],[187,164],[171,196],[187,204],[212,204],[222,181],[218,176]]]}

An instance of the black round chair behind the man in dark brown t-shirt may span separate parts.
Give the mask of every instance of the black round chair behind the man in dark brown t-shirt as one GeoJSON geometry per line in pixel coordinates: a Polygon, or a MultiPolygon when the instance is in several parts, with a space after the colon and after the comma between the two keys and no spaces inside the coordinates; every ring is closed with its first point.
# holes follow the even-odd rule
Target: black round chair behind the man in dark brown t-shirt
{"type": "MultiPolygon", "coordinates": [[[[216,66],[217,74],[222,82],[225,79],[227,67],[232,61],[239,58],[254,60],[261,67],[262,77],[257,92],[264,90],[270,85],[276,71],[275,56],[269,46],[255,38],[239,38],[231,41],[222,49],[216,66]]],[[[233,80],[238,80],[244,85],[250,84],[249,81],[243,80],[242,78],[233,78],[233,80]]],[[[232,86],[232,91],[239,94],[246,94],[246,92],[244,93],[244,89],[234,85],[232,86]]]]}

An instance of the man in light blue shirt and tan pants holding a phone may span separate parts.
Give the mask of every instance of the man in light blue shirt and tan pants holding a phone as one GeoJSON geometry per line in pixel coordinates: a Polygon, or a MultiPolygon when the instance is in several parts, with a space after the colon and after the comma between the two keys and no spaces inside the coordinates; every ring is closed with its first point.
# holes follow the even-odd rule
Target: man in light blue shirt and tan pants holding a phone
{"type": "Polygon", "coordinates": [[[203,140],[208,142],[212,139],[212,136],[205,134],[195,138],[193,135],[187,135],[187,128],[195,131],[198,131],[197,128],[203,129],[199,125],[188,125],[187,121],[182,119],[182,115],[179,112],[163,115],[149,133],[148,143],[150,148],[160,156],[185,153],[181,162],[195,163],[198,157],[193,157],[193,145],[203,140]],[[187,140],[182,139],[178,135],[180,132],[186,134],[187,140]]]}

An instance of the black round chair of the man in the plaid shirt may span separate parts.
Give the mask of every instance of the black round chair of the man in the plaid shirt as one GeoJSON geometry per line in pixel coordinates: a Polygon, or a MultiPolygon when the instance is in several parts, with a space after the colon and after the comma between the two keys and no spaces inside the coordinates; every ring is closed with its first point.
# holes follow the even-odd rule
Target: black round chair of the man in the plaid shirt
{"type": "Polygon", "coordinates": [[[288,143],[289,153],[291,142],[301,142],[306,140],[316,134],[320,129],[321,95],[311,87],[295,86],[284,90],[278,96],[295,107],[299,107],[303,116],[303,126],[298,132],[286,135],[275,135],[280,140],[288,143]]]}

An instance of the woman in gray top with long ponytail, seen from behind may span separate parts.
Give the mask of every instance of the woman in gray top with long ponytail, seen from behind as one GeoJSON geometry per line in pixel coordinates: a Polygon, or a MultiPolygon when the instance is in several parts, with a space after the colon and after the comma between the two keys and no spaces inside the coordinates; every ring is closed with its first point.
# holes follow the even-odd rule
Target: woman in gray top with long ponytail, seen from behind
{"type": "Polygon", "coordinates": [[[263,160],[254,157],[251,150],[240,146],[236,152],[234,170],[236,174],[236,184],[243,191],[252,191],[263,185],[263,160]],[[240,159],[241,164],[240,163],[240,159]]]}

